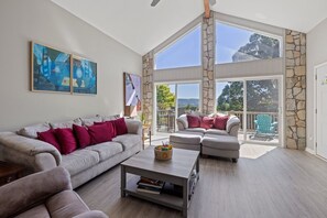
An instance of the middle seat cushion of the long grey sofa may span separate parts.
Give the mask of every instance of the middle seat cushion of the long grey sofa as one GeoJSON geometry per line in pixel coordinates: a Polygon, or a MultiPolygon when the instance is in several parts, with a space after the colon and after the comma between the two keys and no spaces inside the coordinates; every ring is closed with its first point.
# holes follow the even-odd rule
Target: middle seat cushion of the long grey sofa
{"type": "Polygon", "coordinates": [[[100,161],[106,161],[109,157],[123,151],[122,145],[118,142],[105,142],[88,146],[86,148],[86,150],[97,152],[100,156],[100,161]]]}

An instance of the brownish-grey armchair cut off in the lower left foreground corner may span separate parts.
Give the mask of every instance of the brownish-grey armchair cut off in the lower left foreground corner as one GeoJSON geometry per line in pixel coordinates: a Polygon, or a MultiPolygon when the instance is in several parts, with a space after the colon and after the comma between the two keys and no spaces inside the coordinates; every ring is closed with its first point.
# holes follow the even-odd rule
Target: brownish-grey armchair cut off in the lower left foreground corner
{"type": "Polygon", "coordinates": [[[63,167],[35,173],[0,187],[0,217],[108,218],[90,211],[72,189],[63,167]]]}

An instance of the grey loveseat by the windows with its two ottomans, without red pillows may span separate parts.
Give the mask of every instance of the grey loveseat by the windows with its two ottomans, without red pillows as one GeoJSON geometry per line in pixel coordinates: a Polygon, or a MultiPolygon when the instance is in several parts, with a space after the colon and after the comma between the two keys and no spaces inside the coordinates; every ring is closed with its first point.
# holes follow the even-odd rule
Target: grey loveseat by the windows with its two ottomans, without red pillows
{"type": "Polygon", "coordinates": [[[178,131],[170,137],[173,146],[200,151],[204,155],[229,157],[233,162],[238,161],[240,120],[236,116],[229,117],[226,130],[188,128],[186,115],[182,115],[176,121],[178,131]]]}

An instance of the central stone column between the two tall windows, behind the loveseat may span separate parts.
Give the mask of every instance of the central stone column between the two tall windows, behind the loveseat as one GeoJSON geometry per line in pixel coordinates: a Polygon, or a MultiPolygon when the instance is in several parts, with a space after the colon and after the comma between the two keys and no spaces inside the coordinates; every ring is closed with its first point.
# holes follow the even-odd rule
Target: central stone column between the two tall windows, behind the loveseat
{"type": "Polygon", "coordinates": [[[215,19],[203,19],[203,107],[205,115],[215,111],[215,19]]]}

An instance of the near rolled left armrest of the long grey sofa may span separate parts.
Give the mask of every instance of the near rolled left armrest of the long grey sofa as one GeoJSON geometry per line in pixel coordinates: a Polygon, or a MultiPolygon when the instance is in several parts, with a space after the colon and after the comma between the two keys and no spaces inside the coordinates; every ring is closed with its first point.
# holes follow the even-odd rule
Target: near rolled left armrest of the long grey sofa
{"type": "Polygon", "coordinates": [[[53,145],[13,132],[0,132],[0,150],[4,161],[24,164],[34,171],[50,170],[62,161],[53,145]]]}

